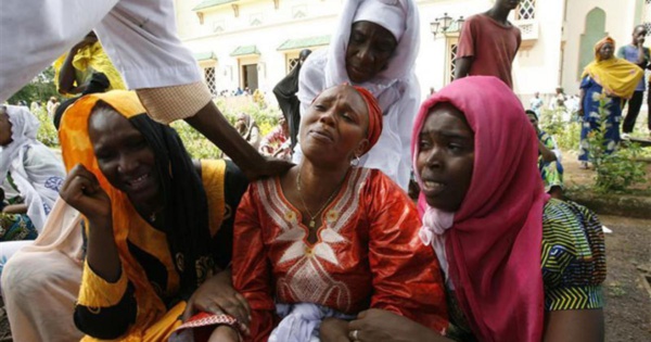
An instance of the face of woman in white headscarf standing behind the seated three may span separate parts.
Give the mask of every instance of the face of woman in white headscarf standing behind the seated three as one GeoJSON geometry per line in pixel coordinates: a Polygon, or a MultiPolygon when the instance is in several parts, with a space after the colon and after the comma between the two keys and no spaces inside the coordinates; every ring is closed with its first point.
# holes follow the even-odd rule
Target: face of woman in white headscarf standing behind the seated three
{"type": "Polygon", "coordinates": [[[397,46],[392,33],[375,23],[353,24],[346,49],[348,78],[356,84],[372,79],[386,68],[397,46]]]}

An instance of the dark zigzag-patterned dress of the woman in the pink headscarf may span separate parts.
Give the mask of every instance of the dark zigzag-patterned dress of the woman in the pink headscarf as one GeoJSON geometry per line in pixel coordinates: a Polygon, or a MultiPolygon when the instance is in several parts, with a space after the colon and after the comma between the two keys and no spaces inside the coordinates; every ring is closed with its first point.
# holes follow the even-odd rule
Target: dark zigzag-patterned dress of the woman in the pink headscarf
{"type": "MultiPolygon", "coordinates": [[[[601,283],[605,280],[605,245],[595,213],[574,202],[550,199],[542,213],[540,269],[545,311],[603,307],[601,283]]],[[[450,327],[455,341],[476,341],[455,291],[446,288],[450,327]]]]}

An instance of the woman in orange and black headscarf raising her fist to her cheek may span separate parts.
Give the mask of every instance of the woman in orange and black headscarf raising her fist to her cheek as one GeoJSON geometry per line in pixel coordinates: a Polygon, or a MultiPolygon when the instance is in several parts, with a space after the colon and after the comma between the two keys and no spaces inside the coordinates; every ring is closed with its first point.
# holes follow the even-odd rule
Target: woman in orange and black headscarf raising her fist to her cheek
{"type": "Polygon", "coordinates": [[[86,96],[61,127],[61,198],[88,237],[74,313],[82,341],[167,341],[186,301],[230,262],[247,180],[230,162],[193,163],[135,92],[86,96]]]}

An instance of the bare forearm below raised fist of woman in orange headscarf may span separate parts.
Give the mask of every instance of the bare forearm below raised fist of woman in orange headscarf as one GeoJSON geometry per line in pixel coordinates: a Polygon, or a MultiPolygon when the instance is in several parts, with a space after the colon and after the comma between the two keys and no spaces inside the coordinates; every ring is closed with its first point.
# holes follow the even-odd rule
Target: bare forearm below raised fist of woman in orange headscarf
{"type": "Polygon", "coordinates": [[[90,223],[87,262],[90,268],[108,282],[120,277],[122,264],[113,236],[113,223],[108,219],[90,223]]]}

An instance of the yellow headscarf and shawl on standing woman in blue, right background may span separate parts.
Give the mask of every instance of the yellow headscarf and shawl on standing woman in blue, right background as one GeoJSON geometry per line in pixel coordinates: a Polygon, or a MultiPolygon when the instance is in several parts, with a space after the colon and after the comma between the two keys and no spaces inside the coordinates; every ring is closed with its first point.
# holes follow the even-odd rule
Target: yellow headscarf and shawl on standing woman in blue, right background
{"type": "Polygon", "coordinates": [[[595,45],[595,61],[586,66],[582,78],[590,76],[597,84],[603,87],[603,91],[609,96],[616,96],[623,99],[630,99],[635,88],[644,76],[644,72],[637,65],[615,56],[601,60],[599,50],[605,43],[613,46],[615,40],[605,37],[595,45]]]}

